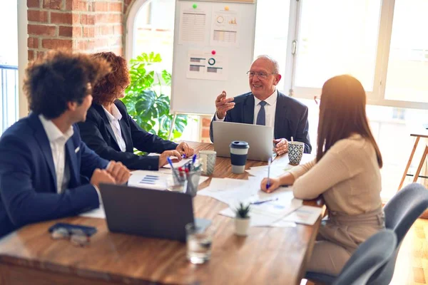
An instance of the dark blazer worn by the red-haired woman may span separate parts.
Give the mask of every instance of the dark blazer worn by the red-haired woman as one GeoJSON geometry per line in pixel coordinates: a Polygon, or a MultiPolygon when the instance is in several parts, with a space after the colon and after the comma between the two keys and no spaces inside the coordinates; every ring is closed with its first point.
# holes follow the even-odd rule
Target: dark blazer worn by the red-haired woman
{"type": "Polygon", "coordinates": [[[86,121],[78,123],[82,140],[101,157],[120,161],[131,170],[158,170],[158,156],[134,155],[133,148],[143,152],[162,153],[165,150],[175,150],[177,144],[143,130],[128,114],[121,100],[116,100],[114,104],[122,114],[119,125],[126,152],[121,151],[103,106],[96,103],[89,108],[86,121]]]}

